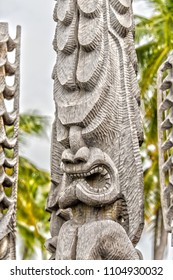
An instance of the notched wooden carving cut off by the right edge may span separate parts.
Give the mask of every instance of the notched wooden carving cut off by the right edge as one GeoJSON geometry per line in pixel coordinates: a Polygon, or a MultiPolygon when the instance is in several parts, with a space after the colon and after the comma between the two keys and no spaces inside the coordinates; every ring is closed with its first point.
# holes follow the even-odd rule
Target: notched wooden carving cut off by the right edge
{"type": "Polygon", "coordinates": [[[173,57],[158,70],[158,148],[161,203],[165,230],[173,246],[173,57]],[[165,77],[166,76],[166,77],[165,77]]]}

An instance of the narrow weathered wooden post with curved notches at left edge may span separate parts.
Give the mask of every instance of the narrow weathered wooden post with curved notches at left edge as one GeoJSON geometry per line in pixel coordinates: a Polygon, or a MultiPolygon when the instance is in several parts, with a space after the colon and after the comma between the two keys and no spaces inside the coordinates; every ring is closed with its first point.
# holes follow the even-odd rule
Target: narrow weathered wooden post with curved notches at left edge
{"type": "Polygon", "coordinates": [[[15,259],[18,174],[20,27],[12,40],[8,24],[0,23],[0,259],[15,259]],[[8,52],[15,51],[15,62],[8,52]],[[9,86],[7,77],[14,77],[9,86]],[[8,102],[13,101],[9,112],[8,102]]]}

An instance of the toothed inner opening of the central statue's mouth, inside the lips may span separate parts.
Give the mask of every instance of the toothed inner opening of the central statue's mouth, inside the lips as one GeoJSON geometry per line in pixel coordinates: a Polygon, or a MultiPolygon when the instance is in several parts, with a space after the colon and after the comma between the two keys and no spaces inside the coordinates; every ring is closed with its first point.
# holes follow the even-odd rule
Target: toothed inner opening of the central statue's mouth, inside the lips
{"type": "Polygon", "coordinates": [[[93,167],[88,172],[68,174],[76,183],[80,182],[85,188],[95,193],[107,191],[111,186],[111,175],[104,166],[93,167]]]}

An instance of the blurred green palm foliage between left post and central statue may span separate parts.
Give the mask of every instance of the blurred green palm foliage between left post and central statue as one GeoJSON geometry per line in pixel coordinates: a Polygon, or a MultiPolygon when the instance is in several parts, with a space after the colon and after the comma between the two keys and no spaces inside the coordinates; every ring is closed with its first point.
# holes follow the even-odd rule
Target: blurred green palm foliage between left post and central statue
{"type": "MultiPolygon", "coordinates": [[[[30,135],[45,135],[48,118],[36,113],[20,115],[20,146],[30,135]]],[[[46,258],[44,242],[49,232],[49,214],[45,201],[49,190],[50,176],[29,159],[19,157],[17,231],[21,259],[35,257],[37,249],[46,258]]]]}

